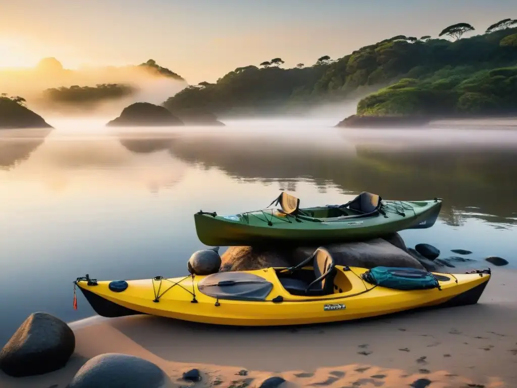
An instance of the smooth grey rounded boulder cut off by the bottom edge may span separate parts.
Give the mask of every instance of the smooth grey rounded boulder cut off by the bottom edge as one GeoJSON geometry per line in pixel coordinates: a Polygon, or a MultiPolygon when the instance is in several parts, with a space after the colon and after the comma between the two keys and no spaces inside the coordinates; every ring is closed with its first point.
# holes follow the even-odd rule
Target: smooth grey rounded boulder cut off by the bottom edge
{"type": "Polygon", "coordinates": [[[168,377],[155,364],[129,354],[104,353],[93,357],[67,388],[162,388],[168,377]]]}

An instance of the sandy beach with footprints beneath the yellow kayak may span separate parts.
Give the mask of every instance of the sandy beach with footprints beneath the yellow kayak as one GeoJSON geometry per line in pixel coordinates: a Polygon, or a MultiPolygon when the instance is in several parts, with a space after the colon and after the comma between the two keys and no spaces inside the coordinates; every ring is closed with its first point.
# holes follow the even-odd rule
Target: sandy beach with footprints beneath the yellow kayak
{"type": "MultiPolygon", "coordinates": [[[[360,322],[257,329],[94,317],[70,324],[77,345],[64,369],[19,379],[0,374],[0,386],[64,388],[88,359],[118,352],[157,364],[178,387],[258,386],[280,376],[293,387],[514,388],[516,275],[494,271],[477,305],[360,322]],[[179,379],[191,368],[200,369],[200,382],[179,379]]],[[[85,303],[81,297],[79,308],[85,303]]]]}

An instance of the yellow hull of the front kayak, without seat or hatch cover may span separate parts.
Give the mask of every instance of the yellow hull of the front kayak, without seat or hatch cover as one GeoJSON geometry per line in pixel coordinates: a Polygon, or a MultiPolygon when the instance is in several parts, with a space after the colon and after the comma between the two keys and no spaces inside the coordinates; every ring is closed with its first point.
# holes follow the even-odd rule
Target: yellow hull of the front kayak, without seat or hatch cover
{"type": "Polygon", "coordinates": [[[476,304],[491,277],[490,270],[438,274],[448,278],[439,281],[441,289],[408,291],[363,283],[359,276],[367,271],[366,268],[336,268],[338,275],[334,285],[338,289],[330,295],[310,297],[288,293],[278,280],[276,271],[279,268],[247,271],[272,284],[268,296],[260,301],[206,295],[198,287],[205,276],[166,279],[178,286],[164,293],[158,302],[155,302],[155,295],[159,286],[153,279],[129,280],[129,286],[123,292],[112,292],[109,281],[99,281],[96,285],[78,281],[77,286],[97,314],[109,318],[146,314],[208,324],[279,326],[348,321],[407,310],[476,304]],[[195,297],[187,292],[189,287],[195,297]]]}

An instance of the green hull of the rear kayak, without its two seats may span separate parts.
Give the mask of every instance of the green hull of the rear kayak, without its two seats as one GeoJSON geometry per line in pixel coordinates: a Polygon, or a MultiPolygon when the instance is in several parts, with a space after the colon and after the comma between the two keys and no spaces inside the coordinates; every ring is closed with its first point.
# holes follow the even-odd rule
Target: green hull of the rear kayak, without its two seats
{"type": "MultiPolygon", "coordinates": [[[[197,237],[208,246],[247,246],[269,243],[329,244],[382,237],[404,229],[424,229],[434,225],[442,200],[398,201],[406,208],[404,215],[379,213],[372,217],[325,219],[283,216],[276,210],[219,216],[194,214],[197,237]],[[268,223],[267,221],[270,220],[268,223]]],[[[310,213],[312,209],[301,209],[310,213]]]]}

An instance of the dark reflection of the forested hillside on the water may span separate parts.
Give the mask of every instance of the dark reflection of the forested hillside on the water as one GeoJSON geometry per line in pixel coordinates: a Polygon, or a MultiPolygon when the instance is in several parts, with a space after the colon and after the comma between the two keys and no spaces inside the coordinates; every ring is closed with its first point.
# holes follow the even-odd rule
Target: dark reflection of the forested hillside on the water
{"type": "MultiPolygon", "coordinates": [[[[311,181],[321,192],[336,186],[343,192],[372,191],[390,199],[444,198],[441,218],[451,226],[466,218],[494,225],[517,223],[517,164],[512,148],[390,147],[355,144],[351,149],[310,142],[216,136],[149,135],[120,142],[135,153],[167,150],[191,165],[218,168],[236,180],[280,182],[296,191],[296,182],[311,181]]],[[[450,145],[450,144],[448,144],[450,145]]]]}

